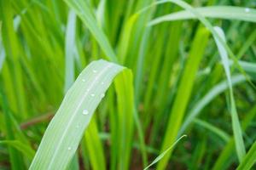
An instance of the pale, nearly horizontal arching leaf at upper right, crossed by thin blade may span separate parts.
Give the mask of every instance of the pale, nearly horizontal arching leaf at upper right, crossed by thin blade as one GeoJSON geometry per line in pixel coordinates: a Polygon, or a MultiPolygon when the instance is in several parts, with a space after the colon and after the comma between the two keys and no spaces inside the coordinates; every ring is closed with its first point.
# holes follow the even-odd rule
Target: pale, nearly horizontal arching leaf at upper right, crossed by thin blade
{"type": "MultiPolygon", "coordinates": [[[[253,8],[212,6],[212,7],[201,7],[201,8],[194,8],[194,9],[204,17],[208,17],[208,18],[256,22],[256,10],[253,8]]],[[[154,20],[151,20],[148,23],[148,25],[149,26],[156,25],[160,22],[166,22],[170,20],[189,20],[189,19],[197,19],[197,16],[191,13],[189,10],[183,10],[177,13],[160,16],[154,20]]]]}

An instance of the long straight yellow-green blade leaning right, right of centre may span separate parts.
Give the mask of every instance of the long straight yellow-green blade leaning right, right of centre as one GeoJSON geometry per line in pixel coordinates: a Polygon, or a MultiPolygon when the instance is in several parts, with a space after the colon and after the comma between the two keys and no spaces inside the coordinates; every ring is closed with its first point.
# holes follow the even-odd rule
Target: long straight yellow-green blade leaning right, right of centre
{"type": "MultiPolygon", "coordinates": [[[[183,71],[183,77],[177,89],[177,96],[172,106],[161,150],[166,150],[166,148],[177,139],[177,133],[183,121],[183,116],[189,103],[189,97],[194,85],[195,73],[199,68],[201,58],[207,46],[208,36],[209,31],[206,29],[200,29],[196,33],[195,40],[192,44],[188,60],[183,71]]],[[[158,163],[158,170],[165,169],[171,155],[172,150],[170,150],[158,163]]]]}

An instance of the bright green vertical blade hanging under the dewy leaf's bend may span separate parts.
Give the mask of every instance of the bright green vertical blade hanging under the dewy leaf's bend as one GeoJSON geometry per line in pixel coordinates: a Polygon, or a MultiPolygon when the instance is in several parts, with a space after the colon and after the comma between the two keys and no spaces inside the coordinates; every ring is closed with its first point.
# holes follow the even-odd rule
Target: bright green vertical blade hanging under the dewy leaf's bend
{"type": "Polygon", "coordinates": [[[117,169],[130,169],[131,145],[134,130],[134,97],[131,71],[122,71],[114,80],[117,93],[117,169]]]}

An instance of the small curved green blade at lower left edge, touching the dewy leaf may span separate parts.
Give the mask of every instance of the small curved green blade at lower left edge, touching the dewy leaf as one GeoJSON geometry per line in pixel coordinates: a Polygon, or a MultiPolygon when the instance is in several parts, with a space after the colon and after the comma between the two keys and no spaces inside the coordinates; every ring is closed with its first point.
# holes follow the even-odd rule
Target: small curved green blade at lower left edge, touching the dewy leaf
{"type": "Polygon", "coordinates": [[[19,140],[1,140],[0,144],[7,144],[20,152],[24,156],[26,156],[29,160],[32,161],[33,156],[35,156],[35,151],[32,150],[32,148],[26,144],[21,143],[19,140]]]}

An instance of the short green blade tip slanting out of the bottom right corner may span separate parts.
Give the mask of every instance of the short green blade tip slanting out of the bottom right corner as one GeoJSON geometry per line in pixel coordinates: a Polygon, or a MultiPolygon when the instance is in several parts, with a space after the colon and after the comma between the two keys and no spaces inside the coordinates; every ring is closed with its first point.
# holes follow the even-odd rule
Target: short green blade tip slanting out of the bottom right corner
{"type": "Polygon", "coordinates": [[[248,170],[253,167],[256,162],[256,141],[248,151],[247,155],[241,161],[241,164],[237,167],[237,170],[248,170]]]}

